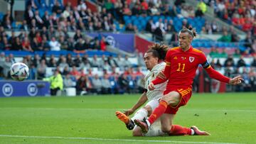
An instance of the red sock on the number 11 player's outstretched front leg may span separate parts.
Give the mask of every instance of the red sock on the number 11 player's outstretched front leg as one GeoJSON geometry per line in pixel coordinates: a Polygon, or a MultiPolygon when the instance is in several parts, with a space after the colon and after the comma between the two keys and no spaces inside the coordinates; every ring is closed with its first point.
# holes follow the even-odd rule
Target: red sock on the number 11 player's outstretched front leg
{"type": "Polygon", "coordinates": [[[149,116],[148,121],[149,123],[154,123],[154,121],[156,121],[157,118],[159,118],[165,111],[167,108],[168,104],[166,101],[160,101],[159,102],[159,106],[156,107],[156,109],[154,109],[154,111],[152,112],[152,114],[149,116]]]}

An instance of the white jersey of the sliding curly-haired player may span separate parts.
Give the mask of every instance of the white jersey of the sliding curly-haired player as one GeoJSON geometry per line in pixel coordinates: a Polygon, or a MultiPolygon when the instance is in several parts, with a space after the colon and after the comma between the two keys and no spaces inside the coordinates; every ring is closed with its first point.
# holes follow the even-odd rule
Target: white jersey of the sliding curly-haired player
{"type": "Polygon", "coordinates": [[[146,96],[149,101],[152,99],[159,99],[161,96],[164,95],[164,90],[166,89],[167,81],[162,84],[155,85],[155,89],[153,91],[149,90],[149,84],[152,80],[156,78],[159,72],[163,71],[166,66],[165,62],[160,62],[159,64],[155,65],[151,71],[145,76],[145,86],[144,88],[147,89],[146,96]]]}

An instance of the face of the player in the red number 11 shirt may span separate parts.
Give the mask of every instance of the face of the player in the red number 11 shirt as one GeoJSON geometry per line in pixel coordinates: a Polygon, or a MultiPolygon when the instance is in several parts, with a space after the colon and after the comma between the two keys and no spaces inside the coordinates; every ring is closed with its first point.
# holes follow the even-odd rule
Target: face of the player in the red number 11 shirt
{"type": "Polygon", "coordinates": [[[186,50],[191,45],[192,37],[188,33],[179,33],[178,43],[183,50],[186,50]]]}

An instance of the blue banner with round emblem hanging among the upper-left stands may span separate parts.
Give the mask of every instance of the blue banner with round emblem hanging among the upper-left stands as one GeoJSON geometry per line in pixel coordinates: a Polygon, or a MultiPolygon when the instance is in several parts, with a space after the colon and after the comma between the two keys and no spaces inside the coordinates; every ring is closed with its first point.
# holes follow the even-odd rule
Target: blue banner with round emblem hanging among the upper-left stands
{"type": "Polygon", "coordinates": [[[126,52],[134,52],[134,34],[132,33],[86,33],[91,37],[101,39],[102,36],[110,45],[126,52]]]}

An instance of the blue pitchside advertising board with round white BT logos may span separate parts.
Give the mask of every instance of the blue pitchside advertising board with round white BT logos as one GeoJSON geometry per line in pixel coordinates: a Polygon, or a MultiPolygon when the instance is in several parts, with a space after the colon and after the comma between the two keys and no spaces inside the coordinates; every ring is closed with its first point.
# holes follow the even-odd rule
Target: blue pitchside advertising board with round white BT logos
{"type": "Polygon", "coordinates": [[[0,81],[1,96],[50,96],[50,83],[43,81],[0,81]]]}

